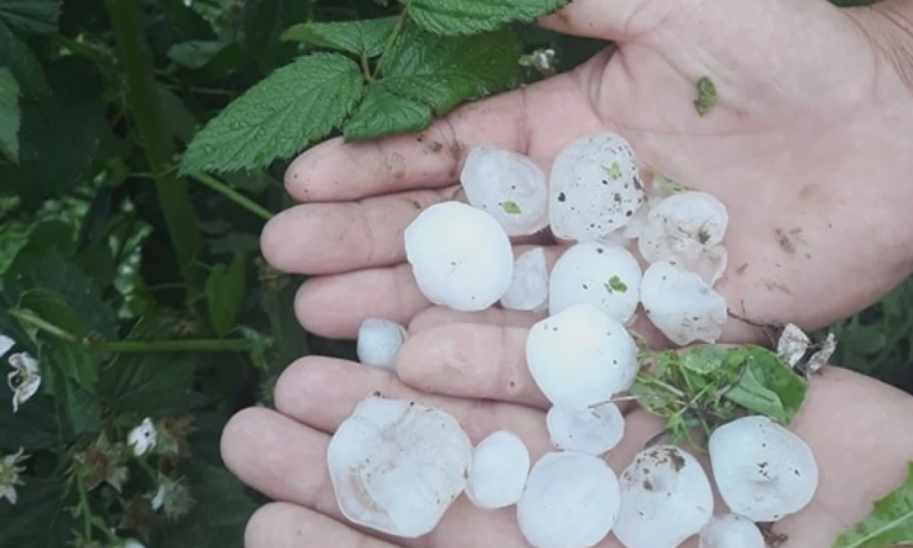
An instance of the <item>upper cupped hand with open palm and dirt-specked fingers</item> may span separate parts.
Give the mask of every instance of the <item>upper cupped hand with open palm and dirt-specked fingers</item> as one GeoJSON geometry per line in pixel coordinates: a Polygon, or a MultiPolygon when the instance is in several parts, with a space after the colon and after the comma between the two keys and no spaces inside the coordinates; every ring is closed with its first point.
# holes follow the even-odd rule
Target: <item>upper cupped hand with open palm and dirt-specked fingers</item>
{"type": "MultiPolygon", "coordinates": [[[[429,303],[404,262],[404,228],[460,199],[467,150],[497,143],[548,169],[572,140],[614,131],[646,169],[728,206],[717,289],[731,311],[819,328],[910,270],[913,101],[879,21],[824,0],[574,0],[542,25],[616,49],[421,134],[304,153],[287,174],[300,205],[268,224],[264,254],[313,276],[296,303],[311,332],[351,338],[367,316],[407,323],[429,303]],[[718,96],[704,117],[692,104],[702,77],[718,96]]],[[[754,334],[729,321],[723,341],[754,334]]]]}

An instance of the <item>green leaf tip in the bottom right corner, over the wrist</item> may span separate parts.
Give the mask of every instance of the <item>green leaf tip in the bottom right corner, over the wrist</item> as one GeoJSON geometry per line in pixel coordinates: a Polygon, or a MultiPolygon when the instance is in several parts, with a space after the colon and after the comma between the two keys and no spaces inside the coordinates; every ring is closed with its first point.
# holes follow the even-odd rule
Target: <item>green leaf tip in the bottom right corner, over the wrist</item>
{"type": "Polygon", "coordinates": [[[907,479],[875,502],[872,512],[837,537],[833,548],[890,548],[913,543],[913,462],[907,479]]]}

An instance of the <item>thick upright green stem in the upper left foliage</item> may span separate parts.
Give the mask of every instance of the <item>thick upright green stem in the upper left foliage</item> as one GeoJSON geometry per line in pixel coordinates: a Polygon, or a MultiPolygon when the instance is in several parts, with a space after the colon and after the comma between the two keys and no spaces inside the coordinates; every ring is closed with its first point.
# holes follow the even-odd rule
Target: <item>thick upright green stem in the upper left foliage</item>
{"type": "Polygon", "coordinates": [[[202,288],[194,269],[200,251],[200,232],[187,185],[170,169],[174,144],[164,124],[158,82],[143,39],[139,0],[105,0],[117,46],[118,61],[126,82],[133,121],[142,137],[142,148],[153,174],[159,205],[172,240],[174,253],[187,288],[202,288]]]}

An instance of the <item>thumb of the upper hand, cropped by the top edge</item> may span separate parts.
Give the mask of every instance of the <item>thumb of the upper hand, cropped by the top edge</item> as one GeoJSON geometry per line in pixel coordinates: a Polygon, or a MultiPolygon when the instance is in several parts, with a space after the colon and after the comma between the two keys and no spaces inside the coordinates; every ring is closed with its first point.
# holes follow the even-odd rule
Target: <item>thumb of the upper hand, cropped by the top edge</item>
{"type": "Polygon", "coordinates": [[[571,0],[539,25],[577,37],[631,41],[655,29],[674,11],[685,13],[704,0],[571,0]]]}

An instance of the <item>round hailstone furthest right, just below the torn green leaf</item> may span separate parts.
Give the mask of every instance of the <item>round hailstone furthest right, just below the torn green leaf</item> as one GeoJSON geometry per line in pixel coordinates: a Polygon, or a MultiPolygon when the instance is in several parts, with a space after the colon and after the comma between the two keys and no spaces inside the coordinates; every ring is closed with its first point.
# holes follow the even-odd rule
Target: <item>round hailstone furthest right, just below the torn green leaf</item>
{"type": "Polygon", "coordinates": [[[719,427],[708,449],[723,501],[753,522],[776,522],[800,511],[817,490],[812,449],[766,416],[745,416],[719,427]]]}

